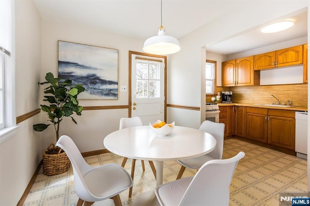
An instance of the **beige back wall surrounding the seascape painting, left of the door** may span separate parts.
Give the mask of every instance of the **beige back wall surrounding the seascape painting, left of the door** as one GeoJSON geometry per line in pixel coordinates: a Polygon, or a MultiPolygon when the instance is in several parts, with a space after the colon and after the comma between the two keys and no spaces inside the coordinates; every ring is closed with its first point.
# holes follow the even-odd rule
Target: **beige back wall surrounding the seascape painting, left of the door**
{"type": "MultiPolygon", "coordinates": [[[[42,40],[42,74],[44,80],[47,72],[58,75],[58,40],[107,47],[119,50],[118,80],[120,86],[128,86],[128,52],[142,52],[143,39],[130,38],[124,35],[110,33],[107,30],[84,26],[81,24],[63,24],[43,20],[42,40]]],[[[41,96],[43,94],[40,88],[41,96]]],[[[42,97],[41,97],[42,99],[42,97]]],[[[128,92],[119,92],[118,100],[79,100],[82,106],[128,105],[128,92]]],[[[127,109],[86,110],[82,116],[74,116],[78,124],[71,118],[64,119],[60,135],[66,134],[75,141],[81,152],[103,149],[103,138],[110,132],[119,129],[119,119],[128,117],[127,109]]],[[[41,112],[43,121],[47,115],[41,112]]],[[[53,128],[44,131],[43,147],[55,142],[53,128]]]]}

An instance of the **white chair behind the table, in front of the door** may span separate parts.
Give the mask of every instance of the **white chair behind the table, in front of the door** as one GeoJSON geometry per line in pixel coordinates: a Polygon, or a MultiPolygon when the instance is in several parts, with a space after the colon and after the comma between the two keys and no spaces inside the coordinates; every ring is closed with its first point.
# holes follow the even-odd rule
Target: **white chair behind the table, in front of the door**
{"type": "MultiPolygon", "coordinates": [[[[121,118],[120,120],[120,130],[128,127],[136,127],[136,126],[143,126],[142,120],[140,117],[132,117],[132,118],[121,118]]],[[[122,162],[122,167],[125,166],[128,158],[124,157],[124,160],[122,162]]],[[[142,164],[142,170],[145,171],[145,166],[143,160],[141,160],[142,164]]],[[[153,174],[156,179],[156,169],[154,166],[154,163],[152,161],[149,161],[149,164],[151,166],[151,169],[153,171],[153,174]]],[[[131,178],[134,179],[135,176],[135,166],[136,166],[136,159],[132,159],[131,164],[131,178]]],[[[132,187],[129,189],[129,197],[132,195],[132,187]]]]}

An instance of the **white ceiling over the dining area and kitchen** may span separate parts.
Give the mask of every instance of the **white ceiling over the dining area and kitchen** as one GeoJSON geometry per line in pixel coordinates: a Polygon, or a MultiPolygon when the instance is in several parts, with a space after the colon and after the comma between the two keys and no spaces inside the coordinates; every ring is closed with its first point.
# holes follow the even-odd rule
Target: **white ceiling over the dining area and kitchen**
{"type": "MultiPolygon", "coordinates": [[[[87,24],[141,39],[155,36],[161,23],[160,0],[33,1],[43,19],[87,24]]],[[[221,15],[227,15],[233,8],[241,7],[243,2],[245,0],[163,0],[162,24],[166,27],[166,35],[180,38],[221,15]]],[[[239,36],[207,45],[207,50],[233,54],[307,36],[307,10],[284,17],[294,20],[293,28],[268,35],[261,33],[260,28],[248,29],[239,36]]]]}

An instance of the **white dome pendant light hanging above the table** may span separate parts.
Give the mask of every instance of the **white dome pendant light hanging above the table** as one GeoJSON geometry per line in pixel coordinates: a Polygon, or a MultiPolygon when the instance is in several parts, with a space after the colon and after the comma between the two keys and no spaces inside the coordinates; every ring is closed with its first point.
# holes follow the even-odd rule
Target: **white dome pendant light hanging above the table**
{"type": "Polygon", "coordinates": [[[162,26],[162,4],[163,1],[161,0],[161,22],[160,27],[158,27],[158,34],[157,36],[152,36],[145,40],[143,45],[143,51],[146,53],[156,55],[168,55],[174,54],[181,49],[179,41],[176,38],[165,34],[165,27],[162,26]]]}

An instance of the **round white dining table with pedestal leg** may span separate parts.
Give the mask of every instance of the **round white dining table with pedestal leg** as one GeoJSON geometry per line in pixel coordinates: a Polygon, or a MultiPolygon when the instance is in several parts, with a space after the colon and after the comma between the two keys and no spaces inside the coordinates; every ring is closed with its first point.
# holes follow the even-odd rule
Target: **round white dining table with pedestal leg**
{"type": "Polygon", "coordinates": [[[151,126],[129,127],[108,134],[104,147],[119,156],[155,161],[156,185],[163,183],[163,161],[199,157],[211,152],[217,140],[198,129],[174,126],[166,136],[156,135],[151,126]]]}

